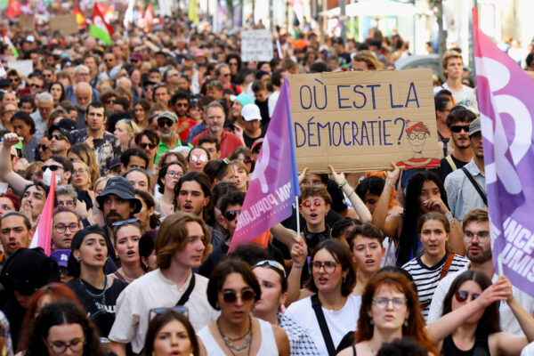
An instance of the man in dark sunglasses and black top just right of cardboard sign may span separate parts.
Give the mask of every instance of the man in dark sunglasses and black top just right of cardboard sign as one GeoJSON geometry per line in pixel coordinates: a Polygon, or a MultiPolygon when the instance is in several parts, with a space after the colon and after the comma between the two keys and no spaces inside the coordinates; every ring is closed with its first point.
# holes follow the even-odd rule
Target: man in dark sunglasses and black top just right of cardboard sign
{"type": "Polygon", "coordinates": [[[447,175],[465,166],[473,158],[473,150],[469,142],[469,125],[475,118],[473,111],[463,106],[450,109],[447,126],[450,130],[453,152],[448,157],[442,158],[440,166],[436,169],[441,182],[445,182],[447,175]]]}

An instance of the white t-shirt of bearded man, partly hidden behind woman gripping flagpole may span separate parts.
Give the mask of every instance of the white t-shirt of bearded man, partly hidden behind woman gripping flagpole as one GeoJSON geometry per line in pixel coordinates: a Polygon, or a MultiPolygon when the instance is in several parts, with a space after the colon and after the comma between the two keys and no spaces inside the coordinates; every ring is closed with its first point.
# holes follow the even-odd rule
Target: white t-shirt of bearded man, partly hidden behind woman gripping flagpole
{"type": "MultiPolygon", "coordinates": [[[[465,266],[463,270],[449,273],[447,277],[441,279],[438,287],[436,287],[434,291],[432,303],[430,303],[430,309],[428,311],[428,316],[426,317],[426,324],[430,325],[441,318],[441,312],[443,311],[443,299],[445,299],[445,295],[447,295],[449,292],[452,282],[457,278],[457,276],[467,271],[468,268],[469,265],[465,266]]],[[[498,275],[494,274],[491,281],[495,283],[497,279],[498,275]]],[[[514,286],[512,286],[512,294],[514,295],[514,298],[521,303],[522,307],[530,313],[530,315],[534,314],[534,298],[526,293],[523,293],[514,286]]],[[[515,319],[514,312],[512,312],[512,309],[510,309],[508,303],[499,303],[498,312],[500,314],[500,327],[503,331],[507,331],[515,335],[523,335],[521,326],[515,319]]]]}

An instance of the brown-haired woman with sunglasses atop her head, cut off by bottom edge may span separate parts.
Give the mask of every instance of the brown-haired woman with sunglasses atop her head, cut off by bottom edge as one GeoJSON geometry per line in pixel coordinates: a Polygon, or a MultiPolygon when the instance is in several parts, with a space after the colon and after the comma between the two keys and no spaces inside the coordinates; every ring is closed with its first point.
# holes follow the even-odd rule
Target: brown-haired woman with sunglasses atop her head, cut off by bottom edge
{"type": "Polygon", "coordinates": [[[158,308],[153,311],[159,312],[160,309],[161,313],[150,320],[143,354],[198,356],[195,329],[186,314],[175,311],[176,308],[158,308]]]}

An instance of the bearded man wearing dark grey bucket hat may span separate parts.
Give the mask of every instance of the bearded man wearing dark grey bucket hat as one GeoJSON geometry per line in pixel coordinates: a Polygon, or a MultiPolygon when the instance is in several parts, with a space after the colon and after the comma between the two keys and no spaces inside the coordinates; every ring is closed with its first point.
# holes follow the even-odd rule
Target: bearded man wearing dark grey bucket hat
{"type": "Polygon", "coordinates": [[[102,230],[106,232],[108,255],[117,263],[115,248],[110,239],[113,236],[113,223],[134,218],[134,214],[141,211],[141,200],[135,198],[135,190],[131,182],[124,177],[113,177],[106,183],[106,188],[101,195],[96,197],[96,202],[104,214],[106,222],[106,226],[102,227],[102,230]]]}

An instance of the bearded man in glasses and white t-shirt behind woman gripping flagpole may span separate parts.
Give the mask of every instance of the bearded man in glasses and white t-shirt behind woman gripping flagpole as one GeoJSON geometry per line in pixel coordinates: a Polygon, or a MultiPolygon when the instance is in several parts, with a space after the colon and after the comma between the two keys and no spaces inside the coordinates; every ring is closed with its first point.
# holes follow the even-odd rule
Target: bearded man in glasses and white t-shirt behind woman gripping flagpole
{"type": "MultiPolygon", "coordinates": [[[[488,209],[474,208],[465,214],[463,230],[465,256],[469,259],[470,263],[465,270],[449,273],[444,279],[441,279],[440,284],[436,287],[433,294],[432,303],[430,304],[430,310],[426,319],[427,325],[431,325],[434,321],[441,318],[443,299],[449,292],[450,285],[457,276],[466,270],[481,271],[494,283],[498,280],[498,274],[493,271],[488,209]]],[[[530,315],[534,313],[534,298],[514,286],[512,287],[512,294],[530,315]]],[[[522,335],[522,329],[507,303],[500,303],[498,312],[500,314],[500,327],[503,331],[522,335]]]]}

